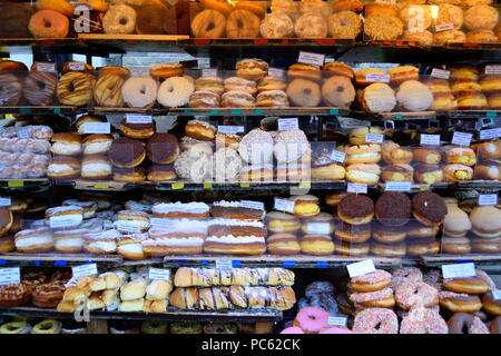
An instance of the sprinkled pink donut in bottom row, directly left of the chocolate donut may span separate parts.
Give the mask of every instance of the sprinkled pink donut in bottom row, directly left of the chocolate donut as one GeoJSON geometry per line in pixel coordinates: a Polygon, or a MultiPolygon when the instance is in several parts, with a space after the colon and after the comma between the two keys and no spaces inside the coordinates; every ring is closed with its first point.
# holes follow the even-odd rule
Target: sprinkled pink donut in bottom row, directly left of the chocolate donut
{"type": "Polygon", "coordinates": [[[419,307],[402,319],[400,334],[449,334],[449,327],[439,313],[419,307]]]}

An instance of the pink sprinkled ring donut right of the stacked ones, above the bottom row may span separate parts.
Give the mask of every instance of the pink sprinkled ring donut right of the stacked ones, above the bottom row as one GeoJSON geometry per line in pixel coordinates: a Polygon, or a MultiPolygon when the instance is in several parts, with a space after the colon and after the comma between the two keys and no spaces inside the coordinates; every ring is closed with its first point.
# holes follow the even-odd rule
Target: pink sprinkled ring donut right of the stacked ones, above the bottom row
{"type": "Polygon", "coordinates": [[[412,307],[429,308],[439,304],[439,291],[424,281],[403,283],[395,289],[395,300],[405,310],[412,307]]]}

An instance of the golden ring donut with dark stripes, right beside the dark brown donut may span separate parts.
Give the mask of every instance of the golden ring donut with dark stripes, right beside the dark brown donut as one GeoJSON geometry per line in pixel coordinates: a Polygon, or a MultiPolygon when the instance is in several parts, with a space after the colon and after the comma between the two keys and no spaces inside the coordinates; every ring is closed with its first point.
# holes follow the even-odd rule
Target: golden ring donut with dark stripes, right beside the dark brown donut
{"type": "Polygon", "coordinates": [[[92,99],[94,77],[90,73],[69,71],[58,82],[58,97],[62,105],[81,107],[92,99]]]}

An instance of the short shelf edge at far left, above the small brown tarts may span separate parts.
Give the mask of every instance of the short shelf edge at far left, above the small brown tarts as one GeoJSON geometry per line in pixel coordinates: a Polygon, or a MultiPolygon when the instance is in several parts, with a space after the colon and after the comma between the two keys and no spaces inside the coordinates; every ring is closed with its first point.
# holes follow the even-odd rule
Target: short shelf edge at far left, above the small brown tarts
{"type": "Polygon", "coordinates": [[[119,255],[86,254],[1,254],[0,265],[67,267],[97,264],[99,267],[119,267],[124,258],[119,255]]]}

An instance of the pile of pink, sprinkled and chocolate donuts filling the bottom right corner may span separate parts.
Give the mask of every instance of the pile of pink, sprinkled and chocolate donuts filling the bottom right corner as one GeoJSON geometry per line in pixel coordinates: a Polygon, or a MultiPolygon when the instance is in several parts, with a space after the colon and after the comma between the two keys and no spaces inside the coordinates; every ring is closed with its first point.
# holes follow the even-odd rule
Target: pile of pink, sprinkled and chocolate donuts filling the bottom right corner
{"type": "Polygon", "coordinates": [[[483,270],[475,274],[442,278],[438,269],[404,267],[341,280],[337,290],[315,281],[282,334],[499,334],[495,285],[483,270]],[[331,317],[347,320],[340,325],[331,317]]]}

